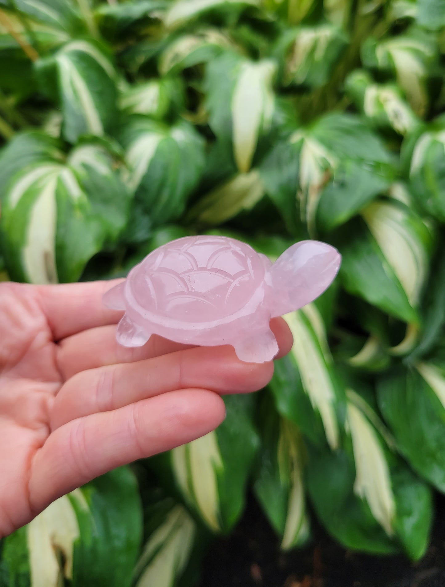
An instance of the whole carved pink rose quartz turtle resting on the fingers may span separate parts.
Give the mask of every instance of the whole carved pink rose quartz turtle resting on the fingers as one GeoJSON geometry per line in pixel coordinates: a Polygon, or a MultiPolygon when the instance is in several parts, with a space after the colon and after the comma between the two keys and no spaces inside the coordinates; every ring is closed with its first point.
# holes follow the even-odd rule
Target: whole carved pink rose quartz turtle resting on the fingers
{"type": "Polygon", "coordinates": [[[234,238],[184,237],[151,252],[104,303],[125,311],[116,335],[123,346],[144,345],[157,334],[232,345],[239,359],[263,363],[278,352],[270,319],[321,295],[340,263],[338,251],[319,241],[297,242],[272,264],[234,238]]]}

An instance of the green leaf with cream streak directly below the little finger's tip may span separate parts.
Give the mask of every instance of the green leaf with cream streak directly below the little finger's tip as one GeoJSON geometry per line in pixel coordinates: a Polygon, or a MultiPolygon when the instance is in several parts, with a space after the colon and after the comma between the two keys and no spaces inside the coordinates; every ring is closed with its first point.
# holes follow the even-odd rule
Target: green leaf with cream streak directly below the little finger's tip
{"type": "Polygon", "coordinates": [[[212,532],[229,532],[244,509],[258,434],[253,396],[225,396],[227,416],[217,430],[152,459],[164,483],[212,532]],[[240,447],[242,446],[242,450],[240,447]]]}

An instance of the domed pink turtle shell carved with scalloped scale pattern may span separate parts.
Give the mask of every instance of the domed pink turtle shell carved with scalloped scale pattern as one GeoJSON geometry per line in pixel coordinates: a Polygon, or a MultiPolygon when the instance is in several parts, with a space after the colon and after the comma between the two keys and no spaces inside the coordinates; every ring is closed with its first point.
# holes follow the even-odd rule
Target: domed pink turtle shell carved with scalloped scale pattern
{"type": "Polygon", "coordinates": [[[202,323],[243,308],[264,274],[264,259],[244,242],[184,237],[151,252],[130,273],[127,287],[144,312],[202,323]]]}

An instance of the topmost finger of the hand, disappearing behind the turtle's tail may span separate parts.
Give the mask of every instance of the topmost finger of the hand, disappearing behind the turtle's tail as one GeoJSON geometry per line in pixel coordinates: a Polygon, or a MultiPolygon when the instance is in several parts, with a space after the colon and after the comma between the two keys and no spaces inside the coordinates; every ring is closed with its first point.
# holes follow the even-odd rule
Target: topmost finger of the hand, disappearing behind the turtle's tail
{"type": "Polygon", "coordinates": [[[102,296],[121,281],[112,279],[78,284],[36,285],[39,302],[54,340],[119,322],[122,312],[106,308],[102,296]]]}

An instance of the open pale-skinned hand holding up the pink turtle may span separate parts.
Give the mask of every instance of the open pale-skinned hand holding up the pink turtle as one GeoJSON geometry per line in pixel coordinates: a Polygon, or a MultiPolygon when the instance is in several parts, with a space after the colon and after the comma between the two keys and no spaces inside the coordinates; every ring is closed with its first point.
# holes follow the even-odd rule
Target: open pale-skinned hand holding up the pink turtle
{"type": "MultiPolygon", "coordinates": [[[[222,394],[272,377],[229,346],[120,347],[120,313],[102,304],[116,283],[0,284],[0,538],[93,478],[204,436],[224,420],[222,394]]],[[[285,355],[286,323],[271,328],[285,355]]]]}

